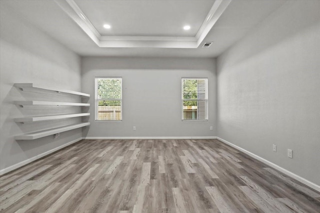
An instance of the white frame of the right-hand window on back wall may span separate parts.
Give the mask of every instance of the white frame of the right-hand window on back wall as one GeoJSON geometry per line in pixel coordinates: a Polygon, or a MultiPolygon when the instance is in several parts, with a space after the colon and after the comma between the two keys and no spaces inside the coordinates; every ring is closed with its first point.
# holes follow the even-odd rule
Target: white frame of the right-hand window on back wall
{"type": "Polygon", "coordinates": [[[208,122],[208,78],[207,77],[182,77],[181,78],[181,121],[182,122],[208,122]],[[183,80],[205,79],[205,99],[183,99],[183,80]],[[205,101],[205,119],[183,119],[183,101],[205,101]]]}

